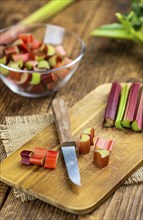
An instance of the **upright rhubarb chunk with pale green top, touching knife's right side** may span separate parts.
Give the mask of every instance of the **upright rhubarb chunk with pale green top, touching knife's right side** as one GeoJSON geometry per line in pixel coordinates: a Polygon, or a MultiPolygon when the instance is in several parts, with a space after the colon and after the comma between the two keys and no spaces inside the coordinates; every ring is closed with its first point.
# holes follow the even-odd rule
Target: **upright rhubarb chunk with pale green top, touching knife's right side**
{"type": "Polygon", "coordinates": [[[80,154],[88,154],[90,151],[90,137],[89,135],[82,134],[78,141],[78,148],[80,154]]]}

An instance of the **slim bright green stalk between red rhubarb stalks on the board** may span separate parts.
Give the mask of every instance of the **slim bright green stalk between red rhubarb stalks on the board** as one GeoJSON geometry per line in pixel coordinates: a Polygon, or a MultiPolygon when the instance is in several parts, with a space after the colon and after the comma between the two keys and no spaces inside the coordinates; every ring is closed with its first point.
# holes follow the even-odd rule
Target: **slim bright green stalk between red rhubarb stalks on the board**
{"type": "Polygon", "coordinates": [[[124,115],[125,108],[126,108],[129,89],[130,89],[130,86],[125,85],[121,90],[121,98],[120,98],[117,117],[116,117],[116,121],[115,121],[115,127],[118,128],[118,129],[123,128],[121,122],[122,122],[123,115],[124,115]]]}

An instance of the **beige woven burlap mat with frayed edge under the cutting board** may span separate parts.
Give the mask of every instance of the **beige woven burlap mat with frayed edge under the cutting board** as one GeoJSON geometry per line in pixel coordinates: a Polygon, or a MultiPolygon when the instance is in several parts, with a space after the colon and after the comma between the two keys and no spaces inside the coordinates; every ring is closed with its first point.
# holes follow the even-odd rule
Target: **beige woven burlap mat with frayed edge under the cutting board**
{"type": "MultiPolygon", "coordinates": [[[[0,125],[0,136],[7,156],[53,121],[52,114],[6,117],[5,124],[0,125]]],[[[140,182],[143,182],[143,167],[130,176],[124,184],[140,182]]],[[[15,198],[20,198],[23,202],[35,199],[17,189],[14,189],[13,192],[15,198]]]]}

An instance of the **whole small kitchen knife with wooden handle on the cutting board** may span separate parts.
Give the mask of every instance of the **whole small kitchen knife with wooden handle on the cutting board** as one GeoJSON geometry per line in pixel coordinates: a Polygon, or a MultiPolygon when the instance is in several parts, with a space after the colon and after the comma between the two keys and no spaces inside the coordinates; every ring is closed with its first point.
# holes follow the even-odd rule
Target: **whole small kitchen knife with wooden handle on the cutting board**
{"type": "Polygon", "coordinates": [[[52,111],[55,118],[60,145],[70,180],[80,186],[80,173],[76,156],[76,143],[72,139],[68,107],[64,100],[54,99],[52,111]]]}

